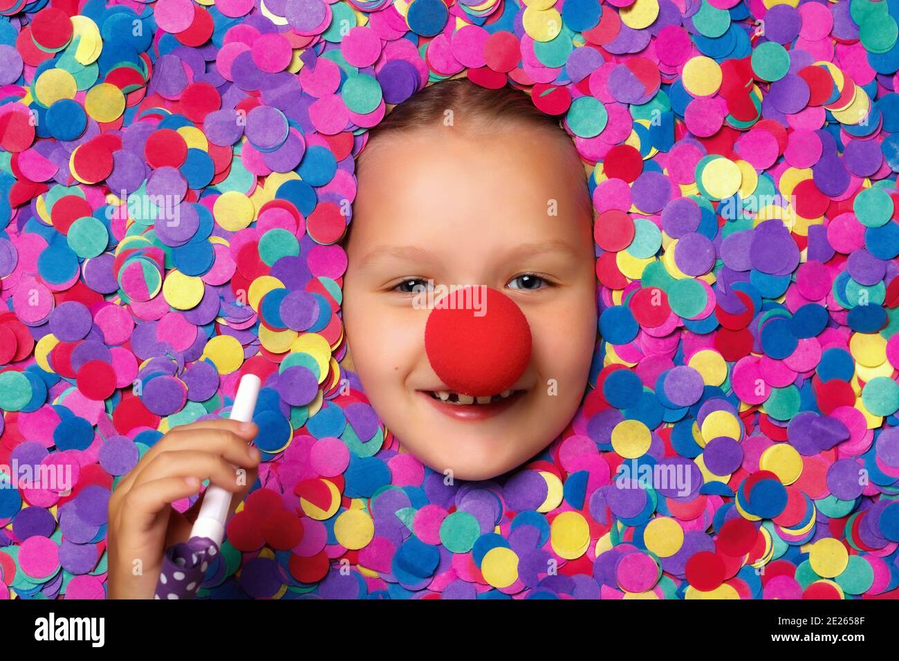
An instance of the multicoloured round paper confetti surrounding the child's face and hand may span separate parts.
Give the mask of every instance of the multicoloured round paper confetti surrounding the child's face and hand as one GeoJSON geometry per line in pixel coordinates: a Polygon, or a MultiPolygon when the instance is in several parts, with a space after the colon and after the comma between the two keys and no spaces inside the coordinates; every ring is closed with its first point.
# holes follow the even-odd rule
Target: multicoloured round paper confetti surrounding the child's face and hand
{"type": "Polygon", "coordinates": [[[111,489],[246,372],[201,597],[899,595],[899,0],[0,13],[0,596],[104,598],[111,489]],[[595,165],[602,341],[545,453],[447,485],[338,364],[338,242],[385,104],[460,72],[595,165]]]}

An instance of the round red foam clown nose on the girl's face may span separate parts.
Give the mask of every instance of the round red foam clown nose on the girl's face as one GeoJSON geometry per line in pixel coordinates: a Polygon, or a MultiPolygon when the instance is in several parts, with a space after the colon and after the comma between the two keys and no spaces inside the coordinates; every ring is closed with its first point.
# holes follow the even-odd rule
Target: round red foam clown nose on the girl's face
{"type": "Polygon", "coordinates": [[[424,326],[424,350],[449,389],[497,395],[512,389],[530,362],[530,326],[502,291],[468,285],[435,302],[424,326]]]}

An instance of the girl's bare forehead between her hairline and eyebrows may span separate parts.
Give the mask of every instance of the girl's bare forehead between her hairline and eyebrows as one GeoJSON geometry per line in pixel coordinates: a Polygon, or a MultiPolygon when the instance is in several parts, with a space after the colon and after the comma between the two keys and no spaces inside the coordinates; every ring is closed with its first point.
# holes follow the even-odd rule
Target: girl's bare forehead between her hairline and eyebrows
{"type": "MultiPolygon", "coordinates": [[[[441,251],[591,242],[592,203],[574,144],[551,131],[443,127],[378,139],[358,171],[348,250],[414,242],[441,251]],[[355,249],[349,246],[354,244],[355,249]]],[[[369,146],[366,146],[368,148],[369,146]]]]}

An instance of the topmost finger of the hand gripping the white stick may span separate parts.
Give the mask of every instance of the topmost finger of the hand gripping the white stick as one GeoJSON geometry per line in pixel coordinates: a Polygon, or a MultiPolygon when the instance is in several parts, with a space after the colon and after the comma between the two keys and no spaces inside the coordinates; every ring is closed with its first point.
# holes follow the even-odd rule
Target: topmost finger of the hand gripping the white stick
{"type": "Polygon", "coordinates": [[[176,427],[166,433],[147,453],[138,461],[138,465],[122,479],[117,489],[128,491],[140,478],[140,474],[147,466],[156,460],[165,451],[177,450],[201,450],[224,457],[232,464],[239,466],[255,465],[259,461],[258,455],[251,451],[247,442],[254,438],[258,428],[253,423],[236,423],[235,420],[207,420],[209,427],[192,427],[185,424],[176,427]],[[212,424],[216,423],[216,424],[212,424]],[[227,423],[227,424],[221,424],[227,423]],[[240,427],[240,424],[248,424],[249,427],[240,427]],[[235,425],[240,433],[236,433],[235,425]],[[191,429],[187,429],[191,427],[191,429]]]}

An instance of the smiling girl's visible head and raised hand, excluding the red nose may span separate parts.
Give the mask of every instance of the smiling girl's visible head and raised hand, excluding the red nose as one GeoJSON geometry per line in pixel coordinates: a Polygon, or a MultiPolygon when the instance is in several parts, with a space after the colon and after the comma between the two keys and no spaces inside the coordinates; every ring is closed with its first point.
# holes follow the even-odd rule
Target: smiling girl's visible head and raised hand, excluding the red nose
{"type": "MultiPolygon", "coordinates": [[[[571,421],[597,339],[592,201],[574,143],[527,94],[457,77],[392,109],[369,132],[357,175],[344,367],[401,450],[435,471],[479,480],[515,469],[571,421]],[[432,310],[415,301],[438,285],[485,286],[521,310],[530,360],[511,388],[473,397],[434,371],[432,310]]],[[[241,502],[256,478],[255,433],[224,419],[179,426],[122,479],[110,500],[110,598],[153,597],[165,549],[186,540],[199,510],[170,505],[201,480],[233,492],[232,511],[241,502]]]]}

